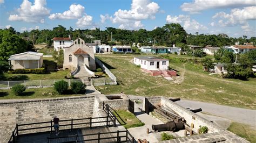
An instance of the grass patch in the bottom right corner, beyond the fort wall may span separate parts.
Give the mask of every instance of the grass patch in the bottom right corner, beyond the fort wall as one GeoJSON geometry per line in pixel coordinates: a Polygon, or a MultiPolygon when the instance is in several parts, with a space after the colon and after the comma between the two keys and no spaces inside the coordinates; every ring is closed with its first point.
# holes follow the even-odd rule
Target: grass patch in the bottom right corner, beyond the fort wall
{"type": "Polygon", "coordinates": [[[256,142],[256,130],[253,130],[250,125],[233,122],[227,130],[250,142],[256,142]]]}

